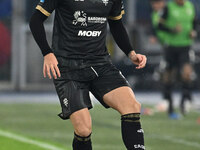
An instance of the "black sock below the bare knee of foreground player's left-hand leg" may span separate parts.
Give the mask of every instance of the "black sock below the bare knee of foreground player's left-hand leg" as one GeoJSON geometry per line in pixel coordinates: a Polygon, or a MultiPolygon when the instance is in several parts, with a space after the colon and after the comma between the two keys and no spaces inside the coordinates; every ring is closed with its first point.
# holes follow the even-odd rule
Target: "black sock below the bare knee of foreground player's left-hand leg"
{"type": "Polygon", "coordinates": [[[74,140],[73,140],[73,150],[92,150],[92,142],[90,136],[81,137],[74,133],[74,140]]]}

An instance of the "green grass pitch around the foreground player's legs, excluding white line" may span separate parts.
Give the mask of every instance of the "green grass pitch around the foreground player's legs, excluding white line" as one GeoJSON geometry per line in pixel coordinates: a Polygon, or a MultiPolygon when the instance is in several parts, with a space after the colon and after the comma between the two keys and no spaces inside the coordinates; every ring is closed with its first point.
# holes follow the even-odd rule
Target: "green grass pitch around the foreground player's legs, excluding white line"
{"type": "MultiPolygon", "coordinates": [[[[0,104],[0,131],[23,136],[29,140],[72,150],[73,127],[62,121],[55,104],[0,104]]],[[[94,150],[125,150],[121,140],[120,116],[111,109],[95,106],[93,118],[94,150]]],[[[169,120],[165,113],[142,116],[147,150],[199,150],[200,113],[191,112],[181,120],[169,120]]],[[[45,150],[29,142],[0,135],[0,150],[45,150]],[[3,145],[3,146],[2,146],[3,145]]],[[[47,149],[47,148],[46,148],[47,149]]]]}

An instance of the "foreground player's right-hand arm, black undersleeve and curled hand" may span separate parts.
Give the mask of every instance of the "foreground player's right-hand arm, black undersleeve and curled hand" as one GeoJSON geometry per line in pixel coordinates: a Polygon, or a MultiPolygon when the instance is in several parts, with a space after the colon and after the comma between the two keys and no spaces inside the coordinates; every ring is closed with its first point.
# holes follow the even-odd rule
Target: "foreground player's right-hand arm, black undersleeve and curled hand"
{"type": "Polygon", "coordinates": [[[108,19],[111,34],[119,48],[137,65],[136,69],[142,69],[146,66],[147,58],[145,55],[136,54],[131,46],[127,31],[121,18],[118,20],[108,19]]]}

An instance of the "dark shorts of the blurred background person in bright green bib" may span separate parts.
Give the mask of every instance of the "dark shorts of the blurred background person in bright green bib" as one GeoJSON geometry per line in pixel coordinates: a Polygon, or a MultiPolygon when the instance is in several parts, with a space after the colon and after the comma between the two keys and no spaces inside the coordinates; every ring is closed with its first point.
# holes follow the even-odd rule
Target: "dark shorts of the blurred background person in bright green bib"
{"type": "Polygon", "coordinates": [[[190,46],[184,47],[165,47],[164,58],[167,63],[168,70],[173,68],[182,68],[186,63],[190,63],[189,57],[190,46]]]}

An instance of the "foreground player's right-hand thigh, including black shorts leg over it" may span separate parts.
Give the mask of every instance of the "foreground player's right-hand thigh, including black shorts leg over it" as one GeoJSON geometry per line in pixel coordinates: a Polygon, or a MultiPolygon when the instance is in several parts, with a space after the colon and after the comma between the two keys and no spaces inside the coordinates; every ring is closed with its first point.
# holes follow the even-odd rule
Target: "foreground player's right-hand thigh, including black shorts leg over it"
{"type": "Polygon", "coordinates": [[[112,64],[95,68],[99,77],[92,82],[91,92],[105,107],[121,114],[140,112],[140,104],[122,73],[112,64]]]}

